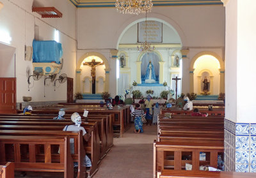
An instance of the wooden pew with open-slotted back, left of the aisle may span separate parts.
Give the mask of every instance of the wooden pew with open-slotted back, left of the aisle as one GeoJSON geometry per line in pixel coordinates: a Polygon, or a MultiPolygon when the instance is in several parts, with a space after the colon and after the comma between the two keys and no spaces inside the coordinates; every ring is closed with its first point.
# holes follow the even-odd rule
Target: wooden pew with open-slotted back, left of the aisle
{"type": "Polygon", "coordinates": [[[69,137],[40,136],[0,136],[0,164],[12,161],[15,170],[34,172],[64,172],[65,178],[74,176],[73,162],[70,154],[69,137]],[[8,145],[12,149],[7,149],[8,145]],[[13,147],[12,147],[13,145],[13,147]],[[29,158],[22,161],[21,145],[29,145],[29,158]],[[36,159],[36,145],[44,145],[44,159],[36,159]],[[60,154],[52,159],[51,146],[59,145],[60,154]],[[13,151],[14,154],[10,154],[13,151]]]}

